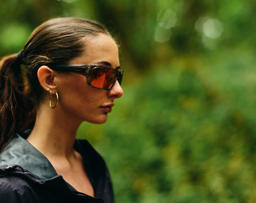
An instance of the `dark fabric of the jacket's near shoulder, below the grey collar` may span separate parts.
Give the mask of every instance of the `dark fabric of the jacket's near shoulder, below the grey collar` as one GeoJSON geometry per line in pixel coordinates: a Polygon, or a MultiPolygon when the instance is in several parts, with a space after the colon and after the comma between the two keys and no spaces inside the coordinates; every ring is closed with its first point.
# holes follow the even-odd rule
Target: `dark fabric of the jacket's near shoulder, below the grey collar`
{"type": "Polygon", "coordinates": [[[0,166],[0,203],[99,203],[97,199],[71,191],[61,176],[41,180],[17,165],[0,166]]]}

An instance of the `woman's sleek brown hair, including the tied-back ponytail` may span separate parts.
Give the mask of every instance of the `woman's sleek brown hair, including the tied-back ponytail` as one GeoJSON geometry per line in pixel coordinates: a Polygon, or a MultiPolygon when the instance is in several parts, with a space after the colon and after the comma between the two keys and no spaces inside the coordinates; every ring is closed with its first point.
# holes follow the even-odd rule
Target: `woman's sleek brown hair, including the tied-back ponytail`
{"type": "Polygon", "coordinates": [[[85,51],[86,36],[100,33],[110,35],[102,25],[86,19],[51,19],[34,30],[20,54],[0,61],[0,152],[14,133],[33,127],[42,96],[38,69],[49,63],[67,64],[85,51]],[[21,64],[26,66],[26,79],[21,64]]]}

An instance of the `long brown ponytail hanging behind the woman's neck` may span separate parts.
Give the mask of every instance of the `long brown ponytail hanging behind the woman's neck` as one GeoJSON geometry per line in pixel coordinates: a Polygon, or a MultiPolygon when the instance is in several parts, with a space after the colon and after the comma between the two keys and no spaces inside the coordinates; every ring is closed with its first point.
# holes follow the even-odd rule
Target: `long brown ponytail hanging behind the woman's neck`
{"type": "Polygon", "coordinates": [[[24,84],[21,60],[23,52],[0,61],[0,153],[16,132],[35,120],[34,102],[24,84]]]}

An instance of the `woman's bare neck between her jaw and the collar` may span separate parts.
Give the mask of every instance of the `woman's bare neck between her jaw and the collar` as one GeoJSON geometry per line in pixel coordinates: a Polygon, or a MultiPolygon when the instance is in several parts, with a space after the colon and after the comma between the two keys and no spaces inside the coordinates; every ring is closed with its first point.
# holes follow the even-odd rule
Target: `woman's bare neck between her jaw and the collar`
{"type": "Polygon", "coordinates": [[[51,109],[42,105],[37,111],[35,127],[27,141],[48,158],[70,159],[74,155],[73,145],[80,123],[74,122],[58,107],[51,109]]]}

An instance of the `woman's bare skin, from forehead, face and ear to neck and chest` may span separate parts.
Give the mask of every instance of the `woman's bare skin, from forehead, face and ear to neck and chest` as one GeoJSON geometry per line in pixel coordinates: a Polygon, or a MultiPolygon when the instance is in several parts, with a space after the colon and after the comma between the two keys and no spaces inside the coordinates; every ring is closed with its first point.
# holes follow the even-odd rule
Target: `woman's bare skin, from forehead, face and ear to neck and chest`
{"type": "MultiPolygon", "coordinates": [[[[85,38],[86,49],[82,56],[70,64],[101,64],[119,68],[118,48],[105,34],[85,38]]],[[[114,105],[122,96],[118,83],[110,90],[90,87],[86,78],[72,72],[58,72],[42,66],[37,72],[41,86],[46,90],[37,109],[36,124],[27,141],[45,155],[58,174],[62,174],[77,191],[94,197],[82,156],[73,148],[76,131],[83,121],[104,123],[114,105]],[[58,106],[49,107],[49,91],[59,95],[58,106]]],[[[53,95],[55,98],[55,96],[53,95]]],[[[53,102],[53,105],[55,103],[53,102]]]]}

